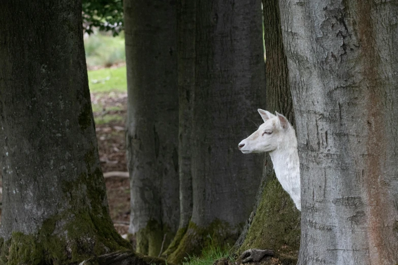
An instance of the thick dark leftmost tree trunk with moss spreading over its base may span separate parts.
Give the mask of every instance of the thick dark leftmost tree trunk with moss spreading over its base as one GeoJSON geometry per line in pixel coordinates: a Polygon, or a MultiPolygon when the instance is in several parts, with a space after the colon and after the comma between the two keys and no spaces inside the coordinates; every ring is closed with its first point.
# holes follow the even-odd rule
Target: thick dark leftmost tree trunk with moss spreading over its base
{"type": "Polygon", "coordinates": [[[69,264],[128,248],[109,217],[81,2],[6,1],[0,24],[0,263],[69,264]]]}

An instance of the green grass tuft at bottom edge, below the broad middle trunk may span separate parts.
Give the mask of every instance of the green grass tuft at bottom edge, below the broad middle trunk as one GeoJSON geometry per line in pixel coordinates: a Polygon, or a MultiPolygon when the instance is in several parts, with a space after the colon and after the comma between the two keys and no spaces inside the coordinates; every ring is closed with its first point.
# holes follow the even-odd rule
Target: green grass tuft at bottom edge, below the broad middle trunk
{"type": "Polygon", "coordinates": [[[208,245],[207,248],[202,250],[202,254],[198,256],[189,256],[182,265],[213,265],[213,263],[220,258],[228,258],[232,262],[234,260],[229,255],[229,251],[221,248],[220,246],[208,245]]]}

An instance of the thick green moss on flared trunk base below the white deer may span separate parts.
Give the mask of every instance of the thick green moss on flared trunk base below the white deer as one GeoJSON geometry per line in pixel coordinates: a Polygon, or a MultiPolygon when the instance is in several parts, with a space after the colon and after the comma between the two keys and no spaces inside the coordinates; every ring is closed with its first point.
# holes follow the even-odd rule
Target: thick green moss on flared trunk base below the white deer
{"type": "Polygon", "coordinates": [[[237,251],[250,248],[272,249],[288,258],[297,256],[300,247],[300,213],[276,178],[263,191],[256,216],[246,239],[237,251]]]}

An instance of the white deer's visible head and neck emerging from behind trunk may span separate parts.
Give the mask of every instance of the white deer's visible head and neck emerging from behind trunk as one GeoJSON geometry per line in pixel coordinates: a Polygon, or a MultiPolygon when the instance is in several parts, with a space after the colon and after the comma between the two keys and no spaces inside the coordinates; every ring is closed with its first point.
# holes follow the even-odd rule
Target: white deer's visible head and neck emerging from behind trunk
{"type": "Polygon", "coordinates": [[[279,182],[301,211],[300,163],[294,128],[286,117],[278,112],[276,116],[261,109],[258,112],[264,123],[239,143],[239,150],[244,154],[269,152],[279,182]]]}

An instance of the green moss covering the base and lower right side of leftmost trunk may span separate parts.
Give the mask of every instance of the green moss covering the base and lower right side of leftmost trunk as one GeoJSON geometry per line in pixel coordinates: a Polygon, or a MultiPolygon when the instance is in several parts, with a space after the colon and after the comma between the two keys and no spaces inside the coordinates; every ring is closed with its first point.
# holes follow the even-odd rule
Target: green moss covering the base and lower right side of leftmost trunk
{"type": "Polygon", "coordinates": [[[87,172],[63,182],[69,208],[45,220],[36,234],[14,232],[7,242],[0,241],[2,264],[72,264],[131,248],[109,217],[101,169],[92,167],[96,165],[94,150],[84,156],[87,172]]]}

